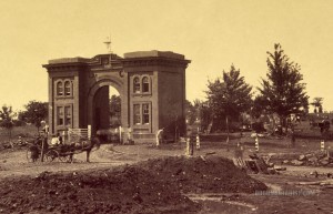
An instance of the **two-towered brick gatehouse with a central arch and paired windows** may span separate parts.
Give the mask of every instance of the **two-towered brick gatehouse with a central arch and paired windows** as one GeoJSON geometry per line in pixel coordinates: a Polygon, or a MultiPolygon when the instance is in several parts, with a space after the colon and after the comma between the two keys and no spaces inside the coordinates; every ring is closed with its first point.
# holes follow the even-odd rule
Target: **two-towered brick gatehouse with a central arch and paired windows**
{"type": "Polygon", "coordinates": [[[189,63],[182,54],[161,51],[50,60],[43,65],[49,73],[49,131],[91,125],[94,134],[108,129],[111,85],[121,96],[121,125],[131,128],[135,142],[154,141],[162,128],[169,139],[175,137],[184,133],[189,63]]]}

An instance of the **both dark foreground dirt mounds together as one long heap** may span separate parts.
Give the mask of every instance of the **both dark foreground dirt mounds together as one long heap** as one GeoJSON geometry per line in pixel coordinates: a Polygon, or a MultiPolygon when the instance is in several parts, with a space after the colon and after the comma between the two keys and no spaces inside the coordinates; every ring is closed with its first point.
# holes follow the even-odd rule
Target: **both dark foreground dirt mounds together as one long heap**
{"type": "Polygon", "coordinates": [[[182,193],[245,192],[266,186],[230,160],[164,157],[110,170],[0,180],[0,213],[195,213],[182,193]]]}

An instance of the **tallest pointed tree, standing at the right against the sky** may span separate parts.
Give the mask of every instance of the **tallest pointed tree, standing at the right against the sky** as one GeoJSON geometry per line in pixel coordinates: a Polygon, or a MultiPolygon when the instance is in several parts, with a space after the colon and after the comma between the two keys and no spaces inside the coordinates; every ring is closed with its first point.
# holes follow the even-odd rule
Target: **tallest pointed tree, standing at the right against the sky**
{"type": "Polygon", "coordinates": [[[268,79],[262,79],[262,88],[258,89],[266,102],[266,110],[276,113],[281,125],[284,125],[291,113],[301,112],[309,96],[305,83],[301,82],[303,75],[300,73],[300,65],[290,62],[279,43],[274,45],[274,52],[268,52],[268,79]]]}

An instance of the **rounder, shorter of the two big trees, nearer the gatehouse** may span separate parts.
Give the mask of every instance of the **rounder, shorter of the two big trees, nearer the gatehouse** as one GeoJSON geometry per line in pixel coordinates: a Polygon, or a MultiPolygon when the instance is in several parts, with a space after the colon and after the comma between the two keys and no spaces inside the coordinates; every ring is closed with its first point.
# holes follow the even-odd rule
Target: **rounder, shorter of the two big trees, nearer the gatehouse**
{"type": "Polygon", "coordinates": [[[250,109],[252,103],[252,86],[240,75],[240,70],[231,65],[229,72],[223,71],[222,81],[209,81],[206,91],[209,106],[211,108],[214,123],[225,120],[229,132],[230,120],[239,119],[240,114],[250,109]]]}

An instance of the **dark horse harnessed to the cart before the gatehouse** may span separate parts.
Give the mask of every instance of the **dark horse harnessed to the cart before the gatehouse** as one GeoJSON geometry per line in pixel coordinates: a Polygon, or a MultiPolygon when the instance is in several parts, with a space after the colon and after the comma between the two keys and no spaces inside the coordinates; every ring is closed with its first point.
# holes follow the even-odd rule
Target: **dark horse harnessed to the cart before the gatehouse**
{"type": "Polygon", "coordinates": [[[78,142],[72,142],[63,150],[70,152],[70,162],[73,162],[73,155],[80,152],[87,152],[85,161],[90,162],[90,153],[92,149],[100,149],[101,141],[98,136],[93,136],[91,140],[80,139],[78,142]]]}

